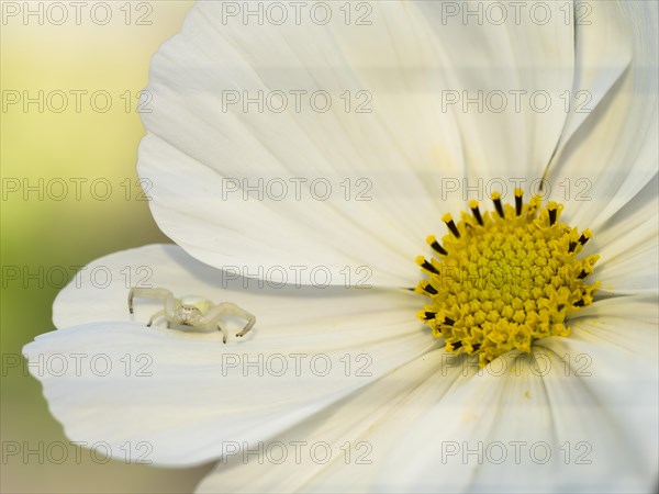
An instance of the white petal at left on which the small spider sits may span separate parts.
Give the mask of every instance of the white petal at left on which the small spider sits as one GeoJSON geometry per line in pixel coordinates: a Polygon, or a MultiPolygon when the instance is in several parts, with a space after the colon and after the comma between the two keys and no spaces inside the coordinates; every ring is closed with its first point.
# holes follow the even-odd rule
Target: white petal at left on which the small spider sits
{"type": "Polygon", "coordinates": [[[171,245],[116,252],[82,270],[56,300],[59,329],[24,348],[67,436],[109,444],[118,458],[130,449],[133,460],[201,463],[226,445],[267,440],[435,345],[414,321],[417,295],[409,292],[243,281],[171,245]],[[136,300],[130,316],[134,284],[231,301],[257,324],[226,345],[216,330],[147,328],[161,305],[136,300]]]}

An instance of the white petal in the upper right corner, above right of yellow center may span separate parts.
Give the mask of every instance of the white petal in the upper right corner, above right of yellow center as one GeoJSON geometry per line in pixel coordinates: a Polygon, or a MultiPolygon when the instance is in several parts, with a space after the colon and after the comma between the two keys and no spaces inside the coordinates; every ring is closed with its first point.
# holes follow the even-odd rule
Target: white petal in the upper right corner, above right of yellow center
{"type": "Polygon", "coordinates": [[[633,59],[561,151],[550,173],[550,195],[570,202],[572,224],[596,233],[657,173],[659,52],[656,2],[593,5],[602,19],[583,29],[603,30],[597,40],[614,36],[611,42],[597,43],[607,48],[600,58],[611,53],[615,69],[619,48],[614,45],[624,47],[632,42],[633,59]],[[619,30],[612,27],[619,22],[625,23],[627,34],[615,36],[619,30]]]}

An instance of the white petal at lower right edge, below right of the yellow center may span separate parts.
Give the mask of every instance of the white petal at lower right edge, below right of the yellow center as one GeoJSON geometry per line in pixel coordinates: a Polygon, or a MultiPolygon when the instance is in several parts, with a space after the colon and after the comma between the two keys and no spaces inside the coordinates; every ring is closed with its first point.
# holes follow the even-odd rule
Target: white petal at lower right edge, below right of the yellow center
{"type": "Polygon", "coordinates": [[[590,394],[606,405],[627,442],[643,450],[639,468],[656,470],[659,334],[657,295],[597,301],[572,321],[569,338],[538,343],[563,357],[569,373],[584,378],[590,394]]]}

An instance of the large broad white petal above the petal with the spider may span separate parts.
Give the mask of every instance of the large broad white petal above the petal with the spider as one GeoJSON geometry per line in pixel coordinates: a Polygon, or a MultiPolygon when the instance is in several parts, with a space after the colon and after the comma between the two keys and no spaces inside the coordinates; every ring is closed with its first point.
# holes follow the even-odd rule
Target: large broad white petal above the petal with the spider
{"type": "Polygon", "coordinates": [[[498,113],[447,101],[538,89],[557,101],[569,91],[573,24],[558,4],[544,25],[513,16],[496,26],[442,23],[432,2],[369,5],[370,25],[338,15],[326,26],[245,25],[199,2],[154,56],[138,172],[153,183],[158,225],[194,257],[260,278],[272,266],[322,263],[334,284],[342,270],[367,267],[376,285],[412,287],[412,260],[426,235],[442,235],[444,212],[463,210],[465,186],[480,183],[482,195],[541,175],[566,121],[560,104],[511,102],[498,113]],[[259,91],[286,93],[288,106],[245,111],[259,91]],[[290,91],[327,91],[333,105],[298,112],[290,91]],[[372,111],[346,111],[345,91],[367,91],[356,104],[370,99],[372,111]],[[256,190],[235,190],[244,183],[256,190]]]}

